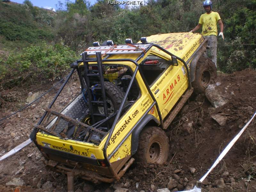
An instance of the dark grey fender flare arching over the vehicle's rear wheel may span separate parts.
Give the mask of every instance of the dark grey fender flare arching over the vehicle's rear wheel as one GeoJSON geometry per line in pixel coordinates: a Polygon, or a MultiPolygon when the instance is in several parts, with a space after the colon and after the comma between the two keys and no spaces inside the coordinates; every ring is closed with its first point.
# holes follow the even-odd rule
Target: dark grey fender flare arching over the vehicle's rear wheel
{"type": "Polygon", "coordinates": [[[138,149],[139,145],[139,136],[141,130],[148,124],[149,121],[155,121],[158,125],[160,122],[156,119],[155,116],[151,114],[147,114],[143,119],[140,120],[140,123],[136,126],[136,128],[132,131],[132,142],[131,142],[131,154],[134,155],[138,149]]]}

